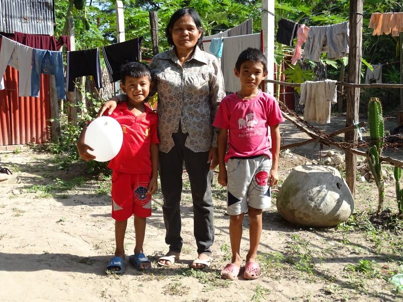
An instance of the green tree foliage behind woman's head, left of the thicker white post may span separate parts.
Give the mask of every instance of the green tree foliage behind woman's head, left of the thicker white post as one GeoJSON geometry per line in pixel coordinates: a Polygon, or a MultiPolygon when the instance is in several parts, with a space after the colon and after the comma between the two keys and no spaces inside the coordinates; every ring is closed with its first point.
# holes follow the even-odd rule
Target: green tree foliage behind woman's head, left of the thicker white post
{"type": "MultiPolygon", "coordinates": [[[[144,55],[151,56],[151,37],[148,11],[158,11],[159,45],[167,49],[165,26],[179,8],[191,6],[200,14],[205,35],[236,26],[254,19],[254,31],[261,28],[261,3],[257,0],[124,0],[126,39],[143,36],[144,55]]],[[[55,0],[56,33],[61,34],[65,24],[68,0],[55,0]]],[[[73,8],[76,49],[86,49],[116,43],[115,1],[87,0],[85,10],[73,8]],[[85,18],[90,29],[85,28],[85,18]]]]}

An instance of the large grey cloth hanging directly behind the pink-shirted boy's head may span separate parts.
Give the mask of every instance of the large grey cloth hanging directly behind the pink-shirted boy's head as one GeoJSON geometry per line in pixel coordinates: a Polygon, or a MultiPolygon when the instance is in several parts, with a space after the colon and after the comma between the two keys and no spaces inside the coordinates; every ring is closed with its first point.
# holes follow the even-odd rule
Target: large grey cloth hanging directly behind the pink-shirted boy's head
{"type": "Polygon", "coordinates": [[[234,75],[234,68],[239,54],[248,47],[260,49],[260,33],[224,38],[221,70],[223,71],[226,91],[237,92],[241,88],[239,79],[234,75]]]}

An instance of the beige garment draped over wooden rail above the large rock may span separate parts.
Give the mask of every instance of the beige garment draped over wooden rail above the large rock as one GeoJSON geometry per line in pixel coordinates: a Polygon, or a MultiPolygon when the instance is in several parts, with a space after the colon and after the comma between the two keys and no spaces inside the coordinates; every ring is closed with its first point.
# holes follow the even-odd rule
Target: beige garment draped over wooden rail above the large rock
{"type": "Polygon", "coordinates": [[[331,104],[336,102],[336,81],[306,81],[301,84],[299,103],[305,104],[305,121],[316,122],[321,125],[330,123],[331,104]]]}

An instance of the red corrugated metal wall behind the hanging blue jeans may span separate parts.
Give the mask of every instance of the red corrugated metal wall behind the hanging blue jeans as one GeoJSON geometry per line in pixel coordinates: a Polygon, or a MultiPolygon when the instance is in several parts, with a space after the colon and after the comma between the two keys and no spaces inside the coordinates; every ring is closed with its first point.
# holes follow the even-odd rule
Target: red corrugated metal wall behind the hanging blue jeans
{"type": "Polygon", "coordinates": [[[0,90],[0,146],[49,140],[49,76],[42,75],[39,98],[18,97],[18,71],[10,66],[0,90]]]}

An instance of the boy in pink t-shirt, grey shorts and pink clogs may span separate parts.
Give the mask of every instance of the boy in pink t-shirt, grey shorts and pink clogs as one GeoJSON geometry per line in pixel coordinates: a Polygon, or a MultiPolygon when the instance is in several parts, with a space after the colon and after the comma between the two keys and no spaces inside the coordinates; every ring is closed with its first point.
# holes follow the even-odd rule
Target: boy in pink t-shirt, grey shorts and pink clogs
{"type": "Polygon", "coordinates": [[[248,212],[250,249],[244,278],[257,279],[260,277],[257,253],[262,233],[262,209],[270,206],[270,187],[278,181],[278,124],[284,119],[277,101],[258,88],[267,76],[267,60],[262,51],[244,50],[238,57],[234,73],[240,79],[241,89],[221,101],[213,123],[220,128],[218,183],[227,186],[227,212],[231,215],[232,261],[221,271],[221,277],[234,280],[239,274],[242,221],[244,213],[248,212]]]}

